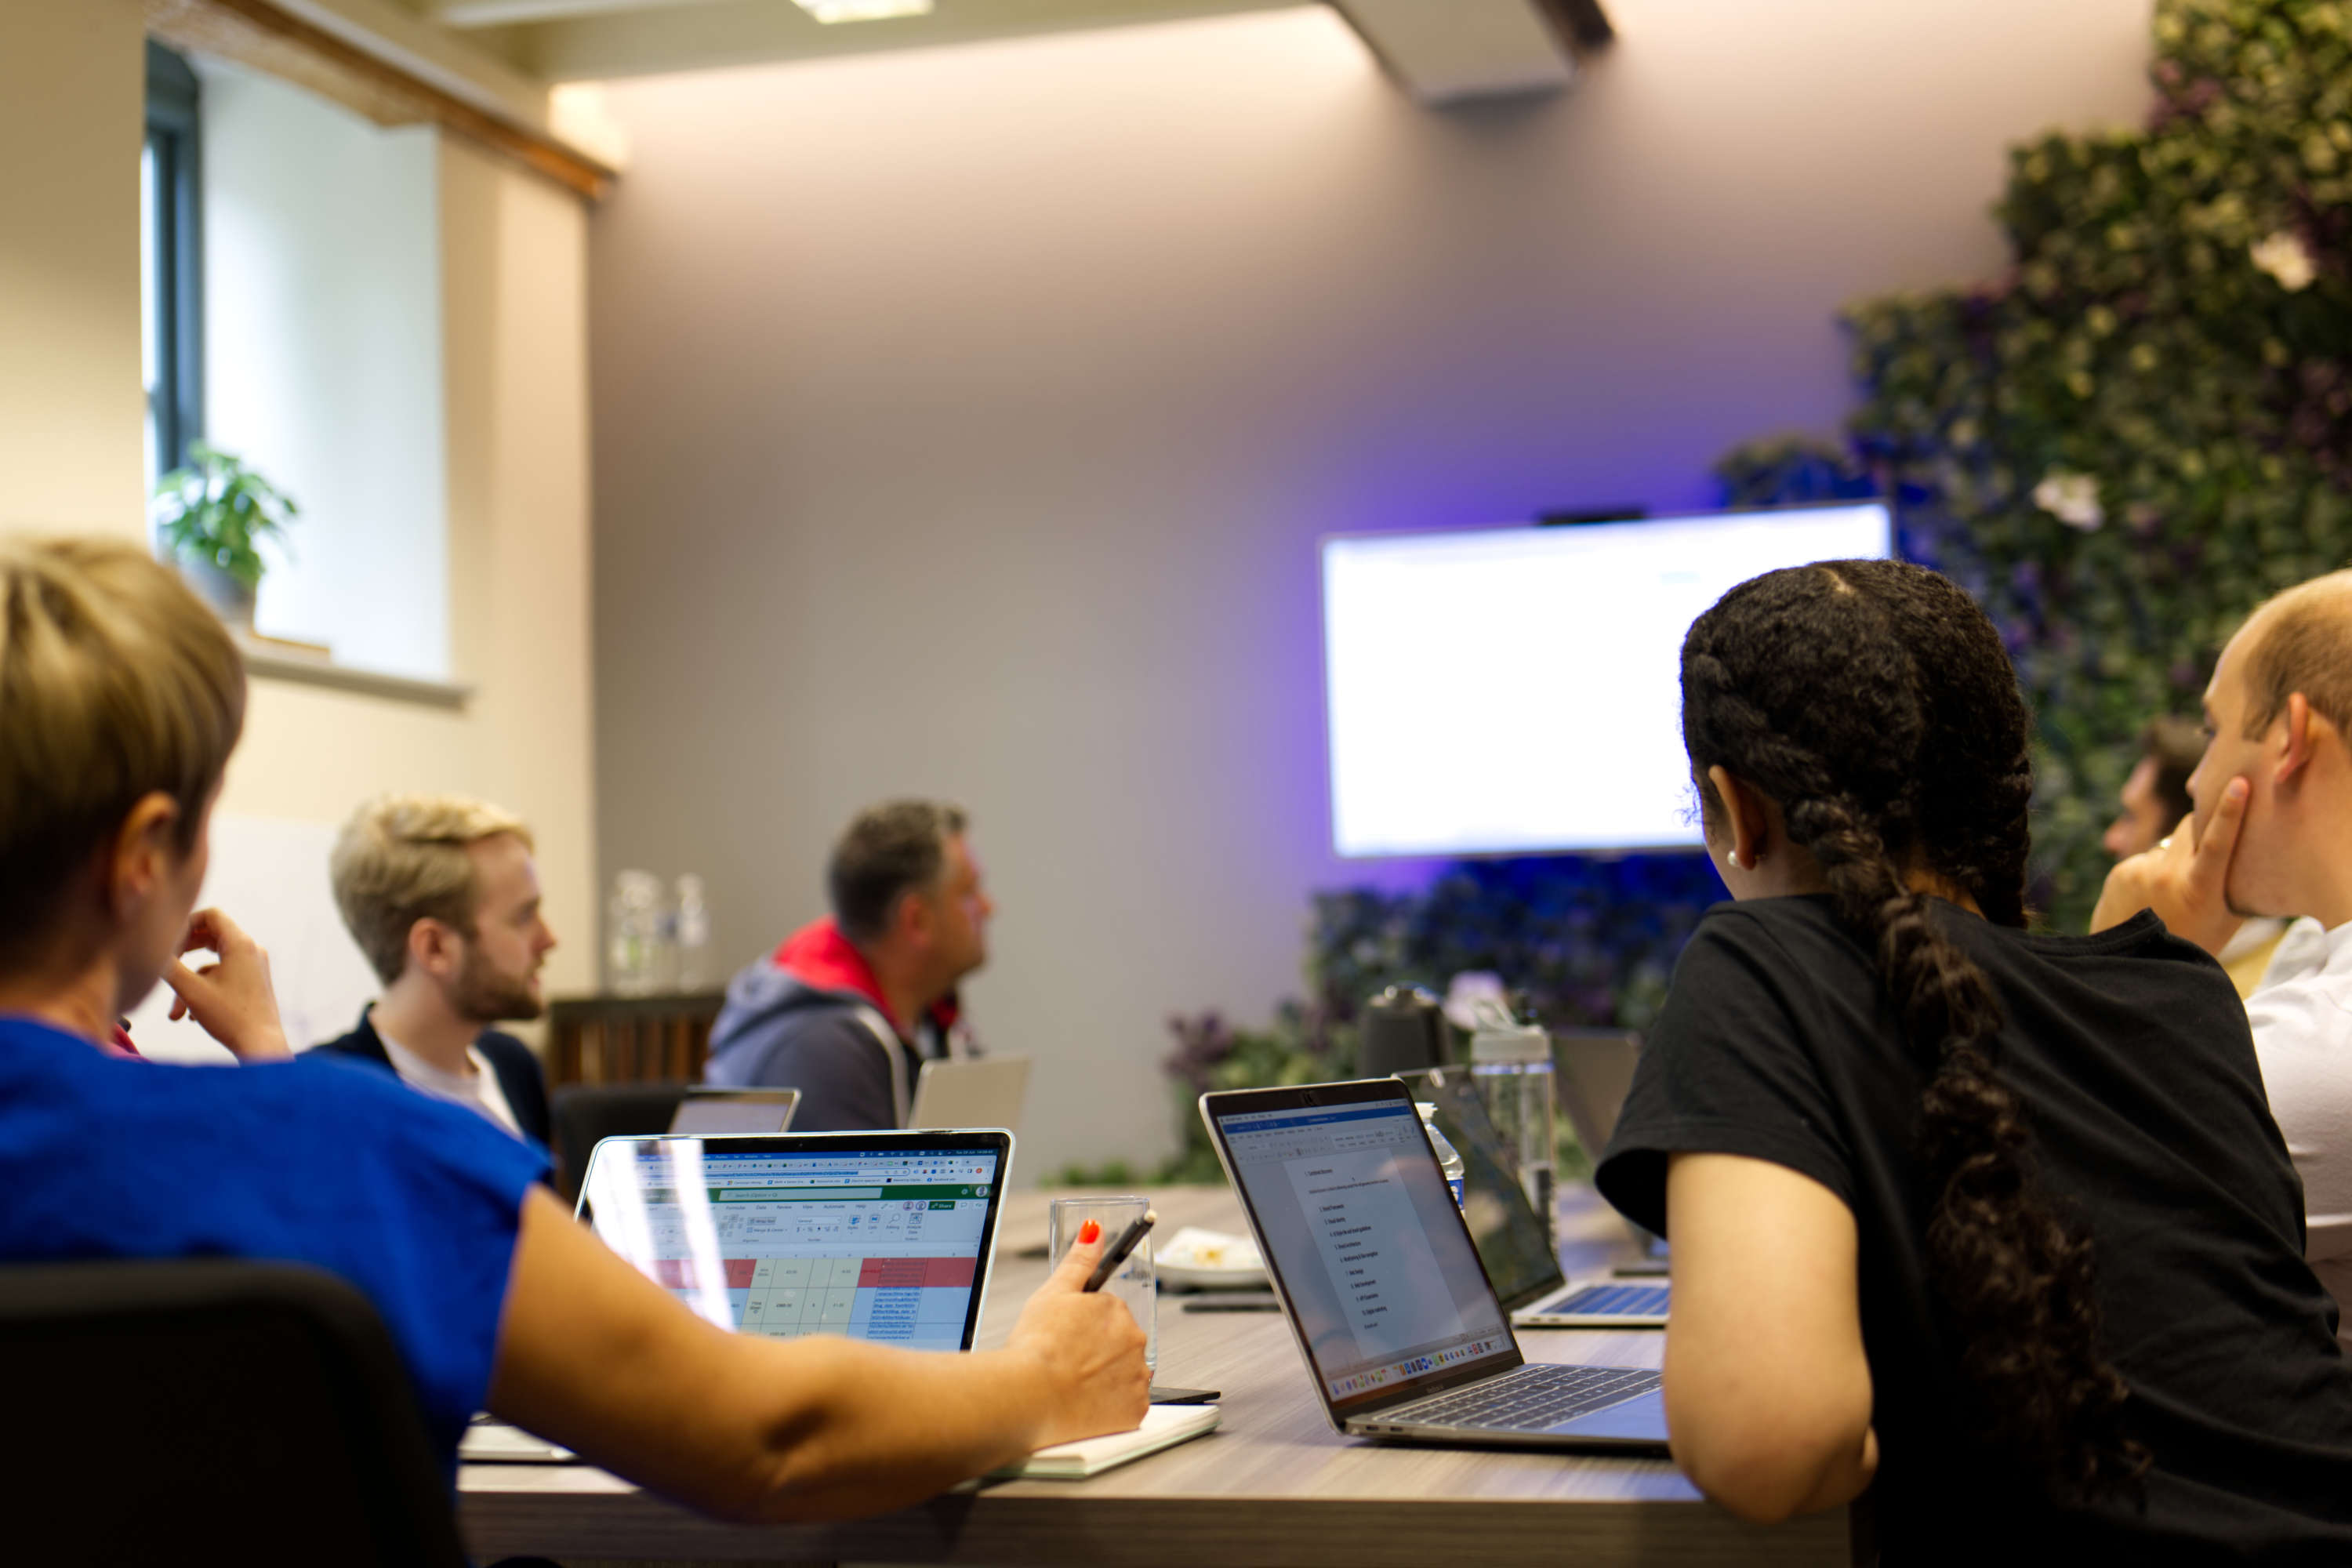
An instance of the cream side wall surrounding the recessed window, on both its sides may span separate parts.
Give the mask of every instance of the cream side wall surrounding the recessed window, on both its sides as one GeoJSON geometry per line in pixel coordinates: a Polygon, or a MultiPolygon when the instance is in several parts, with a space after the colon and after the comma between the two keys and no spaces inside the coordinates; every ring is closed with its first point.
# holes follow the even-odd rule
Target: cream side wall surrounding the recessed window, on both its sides
{"type": "MultiPolygon", "coordinates": [[[[146,536],[143,80],[136,0],[0,2],[0,529],[146,536]]],[[[564,940],[548,985],[581,992],[595,983],[588,216],[470,146],[435,158],[449,644],[477,693],[447,712],[256,679],[221,811],[329,825],[395,788],[522,811],[564,940]]],[[[247,825],[228,837],[315,844],[247,825]]]]}

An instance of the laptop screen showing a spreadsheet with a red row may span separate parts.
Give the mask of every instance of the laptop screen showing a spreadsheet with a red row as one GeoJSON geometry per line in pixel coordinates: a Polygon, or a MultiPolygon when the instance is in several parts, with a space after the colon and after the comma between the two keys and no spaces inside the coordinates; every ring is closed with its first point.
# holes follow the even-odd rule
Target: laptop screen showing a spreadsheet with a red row
{"type": "Polygon", "coordinates": [[[722,1328],[967,1349],[1009,1164],[1004,1133],[607,1138],[581,1213],[722,1328]]]}

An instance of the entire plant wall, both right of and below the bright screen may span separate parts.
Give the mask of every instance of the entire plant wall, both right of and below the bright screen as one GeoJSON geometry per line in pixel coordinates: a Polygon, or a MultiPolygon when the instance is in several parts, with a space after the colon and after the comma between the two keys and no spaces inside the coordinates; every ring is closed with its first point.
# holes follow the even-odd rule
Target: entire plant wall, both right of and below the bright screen
{"type": "MultiPolygon", "coordinates": [[[[1905,552],[1978,595],[2039,722],[2034,896],[2077,931],[2140,726],[2197,712],[2263,597],[2352,562],[2352,2],[2157,0],[2152,26],[2147,127],[2011,153],[2002,277],[1846,310],[1846,437],[1717,465],[1726,505],[1884,494],[1905,552]]],[[[1202,1088],[1350,1072],[1388,983],[1489,969],[1550,1023],[1644,1027],[1719,896],[1700,856],[1319,896],[1308,1001],[1171,1020],[1167,1173],[1216,1178],[1202,1088]]]]}

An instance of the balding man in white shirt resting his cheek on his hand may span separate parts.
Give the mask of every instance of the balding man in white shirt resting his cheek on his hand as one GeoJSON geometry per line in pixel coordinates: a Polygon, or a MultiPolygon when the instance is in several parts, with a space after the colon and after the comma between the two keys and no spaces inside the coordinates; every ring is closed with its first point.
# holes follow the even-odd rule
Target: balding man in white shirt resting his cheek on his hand
{"type": "Polygon", "coordinates": [[[2340,1309],[2352,1300],[2352,571],[2253,611],[2204,708],[2213,741],[2190,776],[2194,811],[2107,875],[2091,929],[2152,907],[2220,952],[2249,917],[2296,922],[2246,1018],[2303,1173],[2305,1258],[2340,1309]]]}

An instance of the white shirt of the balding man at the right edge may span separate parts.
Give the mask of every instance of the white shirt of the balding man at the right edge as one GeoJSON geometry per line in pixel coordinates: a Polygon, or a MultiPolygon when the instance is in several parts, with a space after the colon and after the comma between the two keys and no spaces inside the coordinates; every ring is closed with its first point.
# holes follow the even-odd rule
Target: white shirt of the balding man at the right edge
{"type": "MultiPolygon", "coordinates": [[[[2352,1309],[2352,924],[2298,919],[2246,997],[2270,1114],[2303,1178],[2303,1255],[2352,1309]]],[[[2336,1335],[2352,1349],[2352,1324],[2336,1335]]]]}

